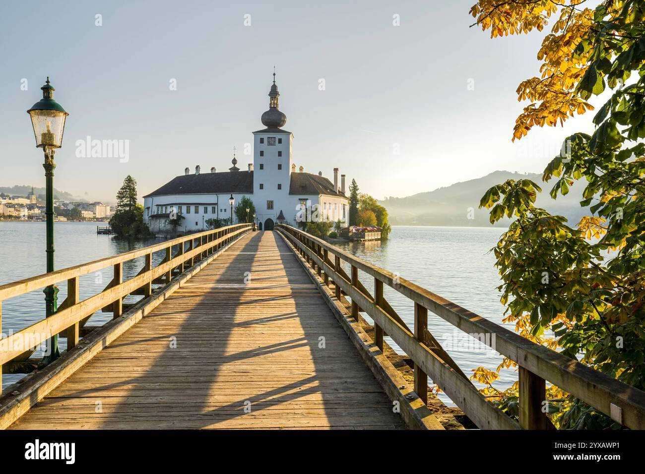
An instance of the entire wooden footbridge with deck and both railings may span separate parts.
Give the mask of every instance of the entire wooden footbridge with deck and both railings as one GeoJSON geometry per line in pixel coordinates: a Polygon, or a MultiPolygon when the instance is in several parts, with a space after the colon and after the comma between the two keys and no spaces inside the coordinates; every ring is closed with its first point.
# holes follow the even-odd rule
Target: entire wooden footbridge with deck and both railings
{"type": "Polygon", "coordinates": [[[553,428],[546,380],[645,427],[644,392],[292,227],[188,235],[5,284],[0,305],[65,282],[57,313],[0,339],[3,373],[30,371],[0,397],[0,428],[441,430],[428,376],[482,429],[553,428]],[[124,279],[123,265],[139,261],[124,279]],[[81,301],[79,277],[108,267],[107,288],[81,301]],[[412,329],[384,286],[413,304],[412,329]],[[141,299],[127,304],[128,295],[141,299]],[[114,317],[93,326],[97,311],[114,317]],[[428,311],[519,364],[519,420],[471,384],[432,336],[428,311]],[[40,367],[34,350],[57,333],[67,350],[40,367]],[[413,382],[392,363],[386,335],[411,361],[413,382]]]}

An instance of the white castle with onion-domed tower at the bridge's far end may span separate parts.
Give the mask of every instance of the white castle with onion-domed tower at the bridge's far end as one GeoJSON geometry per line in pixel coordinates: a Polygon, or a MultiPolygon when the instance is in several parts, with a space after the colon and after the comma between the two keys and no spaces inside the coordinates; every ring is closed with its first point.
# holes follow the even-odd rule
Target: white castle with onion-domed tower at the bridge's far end
{"type": "MultiPolygon", "coordinates": [[[[261,118],[266,128],[253,132],[253,163],[248,170],[237,168],[235,153],[228,172],[215,172],[213,167],[202,173],[198,165],[191,173],[186,168],[183,175],[144,196],[144,219],[153,232],[170,230],[168,219],[175,213],[182,217],[180,230],[201,230],[206,219],[230,219],[231,196],[235,205],[242,197],[252,199],[260,230],[272,230],[276,223],[295,226],[303,220],[346,222],[345,175],[339,183],[338,168],[333,168],[332,183],[322,172],[305,173],[303,166],[297,170],[293,164],[293,133],[282,129],[286,115],[278,108],[275,73],[269,97],[269,110],[261,118]]],[[[234,213],[233,223],[237,223],[234,213]]]]}

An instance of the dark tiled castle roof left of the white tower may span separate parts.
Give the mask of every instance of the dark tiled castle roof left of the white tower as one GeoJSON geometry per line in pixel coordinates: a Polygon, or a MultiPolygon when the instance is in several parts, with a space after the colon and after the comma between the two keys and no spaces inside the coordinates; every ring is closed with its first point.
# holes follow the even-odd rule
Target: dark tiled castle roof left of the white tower
{"type": "MultiPolygon", "coordinates": [[[[332,186],[333,187],[333,186],[332,186]]],[[[227,171],[177,176],[144,197],[165,194],[211,194],[253,192],[252,171],[227,171]]]]}

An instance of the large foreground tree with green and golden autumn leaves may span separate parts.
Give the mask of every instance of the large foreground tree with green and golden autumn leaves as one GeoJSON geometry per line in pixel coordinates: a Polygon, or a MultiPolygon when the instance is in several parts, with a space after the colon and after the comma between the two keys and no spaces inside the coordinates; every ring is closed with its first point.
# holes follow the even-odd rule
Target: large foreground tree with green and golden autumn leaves
{"type": "MultiPolygon", "coordinates": [[[[504,321],[534,342],[644,390],[645,144],[637,140],[645,137],[645,1],[605,0],[593,10],[580,4],[481,0],[471,14],[491,37],[542,30],[556,17],[538,53],[542,77],[517,89],[531,104],[517,118],[513,140],[533,126],[555,126],[592,110],[588,99],[612,90],[593,118],[595,130],[568,137],[542,175],[544,182],[555,179],[554,199],[584,179],[581,206],[591,204],[591,215],[570,226],[536,208],[541,187],[528,179],[493,186],[480,207],[491,210],[491,222],[515,218],[493,248],[501,301],[510,312],[504,321]]],[[[504,359],[497,370],[514,365],[504,359]]],[[[488,379],[486,393],[506,410],[517,384],[499,391],[492,386],[496,375],[485,368],[476,373],[488,379]]],[[[548,389],[548,398],[559,428],[612,426],[557,387],[548,389]]]]}

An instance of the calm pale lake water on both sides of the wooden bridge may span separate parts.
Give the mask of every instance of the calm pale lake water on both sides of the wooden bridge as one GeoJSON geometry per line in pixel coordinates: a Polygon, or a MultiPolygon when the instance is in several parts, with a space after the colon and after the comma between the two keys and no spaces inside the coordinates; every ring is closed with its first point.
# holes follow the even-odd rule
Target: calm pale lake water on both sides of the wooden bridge
{"type": "MultiPolygon", "coordinates": [[[[105,224],[99,224],[104,226],[105,224]]],[[[110,235],[97,235],[95,222],[56,222],[55,268],[66,268],[109,255],[128,252],[152,245],[146,242],[117,241],[110,235]]],[[[504,308],[499,302],[500,284],[495,261],[488,251],[495,245],[500,228],[393,227],[390,239],[384,242],[346,242],[339,244],[346,251],[372,262],[402,278],[427,288],[468,310],[502,324],[504,308]]],[[[45,223],[0,222],[0,284],[17,281],[45,272],[45,223]]],[[[163,258],[154,255],[155,263],[163,258]]],[[[136,275],[141,261],[124,265],[124,279],[136,275]]],[[[112,268],[81,277],[81,299],[103,290],[112,279],[112,268]]],[[[373,281],[363,281],[373,291],[373,281]]],[[[59,288],[59,303],[65,298],[66,285],[59,288]]],[[[400,293],[386,286],[384,295],[402,319],[413,328],[413,304],[400,293]]],[[[3,302],[3,333],[21,330],[45,317],[42,291],[33,291],[3,302]]],[[[101,324],[111,313],[97,313],[91,324],[101,324]]],[[[428,326],[435,338],[450,353],[466,375],[479,366],[494,369],[501,357],[441,318],[428,314],[428,326]]],[[[508,326],[512,330],[512,325],[508,326]]],[[[388,342],[395,348],[392,340],[388,342]]],[[[61,350],[66,347],[64,338],[61,350]]],[[[20,375],[4,375],[3,386],[19,379],[20,375]]],[[[517,380],[517,373],[504,371],[496,384],[506,388],[517,380]]],[[[441,395],[442,400],[450,402],[441,395]]]]}

